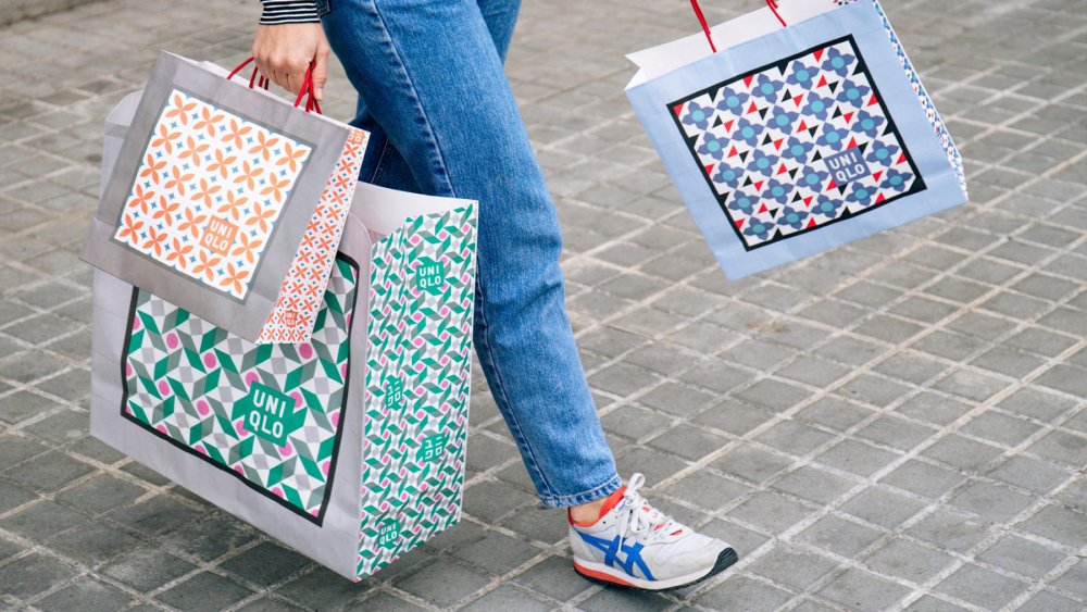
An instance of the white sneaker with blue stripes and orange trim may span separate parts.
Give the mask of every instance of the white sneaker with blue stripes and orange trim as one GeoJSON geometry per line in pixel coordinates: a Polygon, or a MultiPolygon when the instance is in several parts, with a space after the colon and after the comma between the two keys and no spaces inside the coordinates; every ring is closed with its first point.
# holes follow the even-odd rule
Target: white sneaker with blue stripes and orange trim
{"type": "Polygon", "coordinates": [[[696,534],[638,495],[646,482],[635,474],[608,496],[592,524],[570,520],[574,570],[594,582],[648,590],[674,589],[704,580],[736,563],[736,551],[696,534]]]}

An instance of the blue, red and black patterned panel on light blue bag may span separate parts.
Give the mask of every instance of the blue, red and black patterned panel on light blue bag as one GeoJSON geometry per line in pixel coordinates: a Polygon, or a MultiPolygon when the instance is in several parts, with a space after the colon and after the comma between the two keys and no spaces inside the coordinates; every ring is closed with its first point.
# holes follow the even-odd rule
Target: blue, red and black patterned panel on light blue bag
{"type": "Polygon", "coordinates": [[[925,189],[851,36],[670,111],[748,251],[925,189]]]}

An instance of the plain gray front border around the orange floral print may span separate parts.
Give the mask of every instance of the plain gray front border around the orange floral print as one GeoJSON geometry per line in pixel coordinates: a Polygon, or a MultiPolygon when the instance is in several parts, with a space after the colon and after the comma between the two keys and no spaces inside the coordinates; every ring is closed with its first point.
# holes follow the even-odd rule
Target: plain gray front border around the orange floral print
{"type": "Polygon", "coordinates": [[[270,98],[263,92],[229,82],[195,62],[163,51],[155,62],[114,170],[105,184],[80,257],[91,265],[147,289],[218,327],[255,341],[275,307],[279,288],[348,136],[349,130],[345,126],[311,113],[299,112],[289,102],[270,98]],[[120,217],[127,201],[132,179],[139,170],[147,148],[147,139],[142,135],[153,129],[162,108],[161,100],[175,88],[192,92],[202,99],[214,99],[216,107],[261,125],[276,125],[278,127],[275,132],[308,145],[326,143],[314,147],[305,164],[308,167],[299,174],[289,205],[285,205],[277,222],[280,227],[276,232],[277,239],[275,242],[270,240],[265,247],[261,266],[254,271],[250,282],[249,293],[240,303],[236,298],[224,295],[199,279],[174,271],[173,274],[164,275],[164,270],[172,268],[112,239],[115,220],[120,217]],[[242,112],[240,109],[247,111],[242,112]],[[252,118],[253,115],[260,115],[261,118],[252,118]]]}

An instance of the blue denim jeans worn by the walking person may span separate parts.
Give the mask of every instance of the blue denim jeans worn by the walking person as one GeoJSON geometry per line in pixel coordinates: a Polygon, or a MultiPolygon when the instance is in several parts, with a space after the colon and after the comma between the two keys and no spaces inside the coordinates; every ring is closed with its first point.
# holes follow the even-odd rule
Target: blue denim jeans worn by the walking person
{"type": "Polygon", "coordinates": [[[318,5],[372,134],[362,179],[479,201],[473,340],[540,500],[605,497],[621,482],[566,317],[559,220],[502,70],[520,2],[318,5]]]}

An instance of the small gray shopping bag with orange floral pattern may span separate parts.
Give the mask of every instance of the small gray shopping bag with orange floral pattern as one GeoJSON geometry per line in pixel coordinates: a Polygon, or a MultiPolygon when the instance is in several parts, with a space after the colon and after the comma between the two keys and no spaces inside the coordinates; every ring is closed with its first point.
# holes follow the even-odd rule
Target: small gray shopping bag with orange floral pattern
{"type": "Polygon", "coordinates": [[[247,340],[298,342],[367,135],[252,85],[160,55],[83,259],[247,340]]]}

